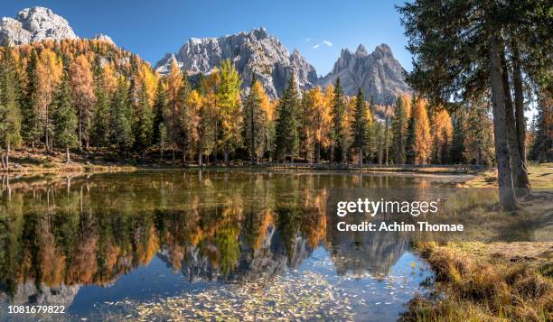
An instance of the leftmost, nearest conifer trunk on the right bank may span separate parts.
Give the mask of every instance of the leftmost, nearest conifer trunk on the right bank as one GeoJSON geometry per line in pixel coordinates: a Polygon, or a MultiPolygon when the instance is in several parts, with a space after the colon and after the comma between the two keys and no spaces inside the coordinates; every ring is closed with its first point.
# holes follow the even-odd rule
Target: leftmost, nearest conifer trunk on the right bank
{"type": "Polygon", "coordinates": [[[500,44],[495,28],[489,25],[490,35],[490,80],[492,85],[493,136],[495,157],[497,159],[500,204],[506,210],[517,207],[511,175],[511,156],[507,143],[507,124],[505,121],[505,92],[503,87],[500,44]]]}

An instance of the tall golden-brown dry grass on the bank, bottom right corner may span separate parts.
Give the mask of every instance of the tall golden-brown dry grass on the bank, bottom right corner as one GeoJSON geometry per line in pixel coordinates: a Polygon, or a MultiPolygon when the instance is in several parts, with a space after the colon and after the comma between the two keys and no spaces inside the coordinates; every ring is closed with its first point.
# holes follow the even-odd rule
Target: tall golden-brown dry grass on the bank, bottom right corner
{"type": "Polygon", "coordinates": [[[553,320],[553,280],[542,274],[548,268],[475,261],[457,246],[416,245],[436,271],[436,292],[412,299],[402,320],[553,320]]]}

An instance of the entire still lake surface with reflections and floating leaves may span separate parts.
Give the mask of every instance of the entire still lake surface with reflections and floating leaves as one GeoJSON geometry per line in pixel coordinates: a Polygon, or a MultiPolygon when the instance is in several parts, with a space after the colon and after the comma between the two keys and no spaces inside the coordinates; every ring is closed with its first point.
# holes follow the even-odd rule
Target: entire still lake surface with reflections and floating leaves
{"type": "Polygon", "coordinates": [[[395,320],[424,291],[426,263],[394,235],[336,231],[329,189],[450,185],[451,176],[250,170],[4,179],[0,308],[395,320]]]}

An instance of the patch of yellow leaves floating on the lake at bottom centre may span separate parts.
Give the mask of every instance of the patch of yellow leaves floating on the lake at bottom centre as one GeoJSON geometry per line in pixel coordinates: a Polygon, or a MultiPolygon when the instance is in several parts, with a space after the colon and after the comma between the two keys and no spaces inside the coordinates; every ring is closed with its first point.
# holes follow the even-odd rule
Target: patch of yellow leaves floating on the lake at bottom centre
{"type": "Polygon", "coordinates": [[[127,307],[127,319],[152,320],[353,320],[343,290],[323,275],[306,271],[276,278],[223,284],[198,293],[127,307]]]}

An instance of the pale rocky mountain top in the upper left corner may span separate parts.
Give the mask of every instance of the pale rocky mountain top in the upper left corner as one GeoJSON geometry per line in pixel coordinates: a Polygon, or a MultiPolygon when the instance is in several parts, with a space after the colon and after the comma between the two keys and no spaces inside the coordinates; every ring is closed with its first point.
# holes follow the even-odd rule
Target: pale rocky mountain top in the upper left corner
{"type": "Polygon", "coordinates": [[[11,46],[52,39],[77,39],[67,20],[41,6],[26,8],[0,20],[0,44],[11,46]]]}

